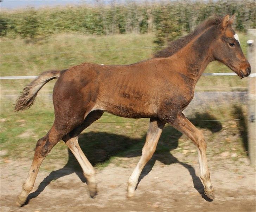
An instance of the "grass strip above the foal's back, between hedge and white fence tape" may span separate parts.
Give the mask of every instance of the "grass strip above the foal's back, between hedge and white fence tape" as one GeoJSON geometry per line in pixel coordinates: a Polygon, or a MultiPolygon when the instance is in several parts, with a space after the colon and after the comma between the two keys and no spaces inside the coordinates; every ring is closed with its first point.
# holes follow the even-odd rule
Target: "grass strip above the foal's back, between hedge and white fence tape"
{"type": "Polygon", "coordinates": [[[26,44],[19,38],[1,38],[0,43],[1,75],[38,74],[47,69],[65,69],[85,61],[98,64],[130,64],[150,57],[151,49],[141,47],[156,46],[153,44],[152,34],[98,37],[61,34],[36,43],[26,44]],[[115,50],[125,48],[128,49],[115,50]]]}

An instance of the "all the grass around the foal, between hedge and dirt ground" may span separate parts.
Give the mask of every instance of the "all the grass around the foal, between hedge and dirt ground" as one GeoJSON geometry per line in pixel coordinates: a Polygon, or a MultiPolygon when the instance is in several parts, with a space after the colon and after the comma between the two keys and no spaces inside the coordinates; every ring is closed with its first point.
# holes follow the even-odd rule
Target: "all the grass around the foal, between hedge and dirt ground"
{"type": "MultiPolygon", "coordinates": [[[[246,36],[241,34],[239,38],[246,53],[246,36]]],[[[37,43],[29,44],[19,38],[1,38],[1,76],[37,75],[49,69],[65,69],[85,61],[98,64],[131,64],[152,57],[152,53],[155,51],[154,48],[141,47],[155,46],[153,40],[152,34],[119,34],[98,37],[62,34],[53,35],[37,43]],[[114,50],[123,48],[130,49],[114,50]],[[104,49],[110,50],[102,51],[104,49]]],[[[205,72],[231,72],[231,70],[224,65],[213,62],[205,72]]],[[[3,158],[31,159],[36,141],[47,133],[53,123],[54,111],[49,96],[39,95],[35,104],[29,110],[13,112],[13,104],[15,98],[17,98],[15,95],[18,95],[30,81],[27,79],[1,80],[0,150],[8,151],[3,158]]],[[[51,94],[54,83],[55,80],[49,82],[39,94],[51,94]]],[[[246,87],[246,79],[240,80],[237,76],[201,77],[196,91],[238,91],[245,90],[246,87]]],[[[246,114],[244,107],[241,107],[238,111],[229,102],[225,103],[225,99],[223,99],[221,105],[213,104],[211,108],[202,108],[194,108],[194,115],[189,118],[192,120],[223,120],[236,119],[236,115],[241,118],[246,114]]],[[[117,161],[116,158],[137,157],[141,154],[148,128],[148,123],[141,121],[148,120],[125,119],[104,113],[103,117],[97,122],[119,123],[94,123],[82,133],[80,138],[81,147],[92,164],[99,168],[104,167],[110,161],[117,161]]],[[[242,134],[244,129],[241,126],[243,124],[234,121],[193,123],[203,129],[211,157],[214,154],[221,153],[221,148],[223,150],[235,148],[238,155],[244,156],[242,136],[234,137],[231,143],[224,139],[225,134],[226,136],[233,136],[234,133],[242,134]],[[211,132],[219,128],[220,125],[222,125],[222,130],[211,132]],[[223,141],[223,143],[220,144],[219,141],[223,141]]],[[[182,152],[187,148],[194,149],[195,147],[184,135],[181,136],[178,131],[166,126],[156,154],[159,160],[168,164],[172,160],[170,152],[182,152]]],[[[196,153],[189,152],[187,154],[193,155],[196,153]]],[[[44,164],[49,166],[52,159],[60,160],[59,163],[65,164],[67,158],[69,158],[68,163],[75,163],[65,144],[60,142],[53,148],[44,164]]]]}

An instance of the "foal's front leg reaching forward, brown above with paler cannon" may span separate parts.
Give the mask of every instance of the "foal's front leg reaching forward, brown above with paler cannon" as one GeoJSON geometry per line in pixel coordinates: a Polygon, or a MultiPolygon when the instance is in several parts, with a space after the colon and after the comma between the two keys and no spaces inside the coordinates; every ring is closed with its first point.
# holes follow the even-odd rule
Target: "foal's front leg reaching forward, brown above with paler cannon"
{"type": "Polygon", "coordinates": [[[180,112],[173,121],[168,121],[170,125],[179,130],[181,133],[187,135],[193,143],[197,146],[199,167],[200,167],[200,178],[203,181],[205,187],[205,194],[210,199],[214,199],[214,189],[211,184],[210,172],[207,165],[206,158],[206,142],[204,135],[199,131],[186,117],[180,112]]]}

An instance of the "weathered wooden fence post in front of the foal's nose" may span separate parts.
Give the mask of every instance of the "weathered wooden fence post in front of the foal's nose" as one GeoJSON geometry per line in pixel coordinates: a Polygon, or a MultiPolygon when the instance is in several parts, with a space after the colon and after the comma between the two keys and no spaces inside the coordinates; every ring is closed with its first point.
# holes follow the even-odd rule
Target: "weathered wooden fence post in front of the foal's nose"
{"type": "MultiPolygon", "coordinates": [[[[256,29],[248,29],[248,61],[251,75],[256,73],[256,29]]],[[[248,79],[248,151],[252,166],[256,166],[256,77],[248,79]]]]}

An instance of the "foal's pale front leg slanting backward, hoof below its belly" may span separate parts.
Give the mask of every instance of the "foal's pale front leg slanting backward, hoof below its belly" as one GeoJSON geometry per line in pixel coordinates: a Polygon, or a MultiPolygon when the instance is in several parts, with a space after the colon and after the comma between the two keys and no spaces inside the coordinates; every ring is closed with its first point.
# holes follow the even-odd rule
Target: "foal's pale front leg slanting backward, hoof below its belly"
{"type": "Polygon", "coordinates": [[[137,163],[136,167],[134,168],[133,173],[130,175],[128,179],[128,197],[134,196],[134,191],[136,188],[136,185],[138,183],[140,174],[144,166],[147,164],[147,162],[152,158],[152,155],[155,152],[156,145],[158,143],[158,140],[160,138],[160,135],[162,133],[162,129],[165,126],[165,122],[161,122],[159,120],[151,119],[148,132],[147,132],[147,138],[146,142],[142,148],[142,155],[139,160],[139,163],[137,163]]]}

